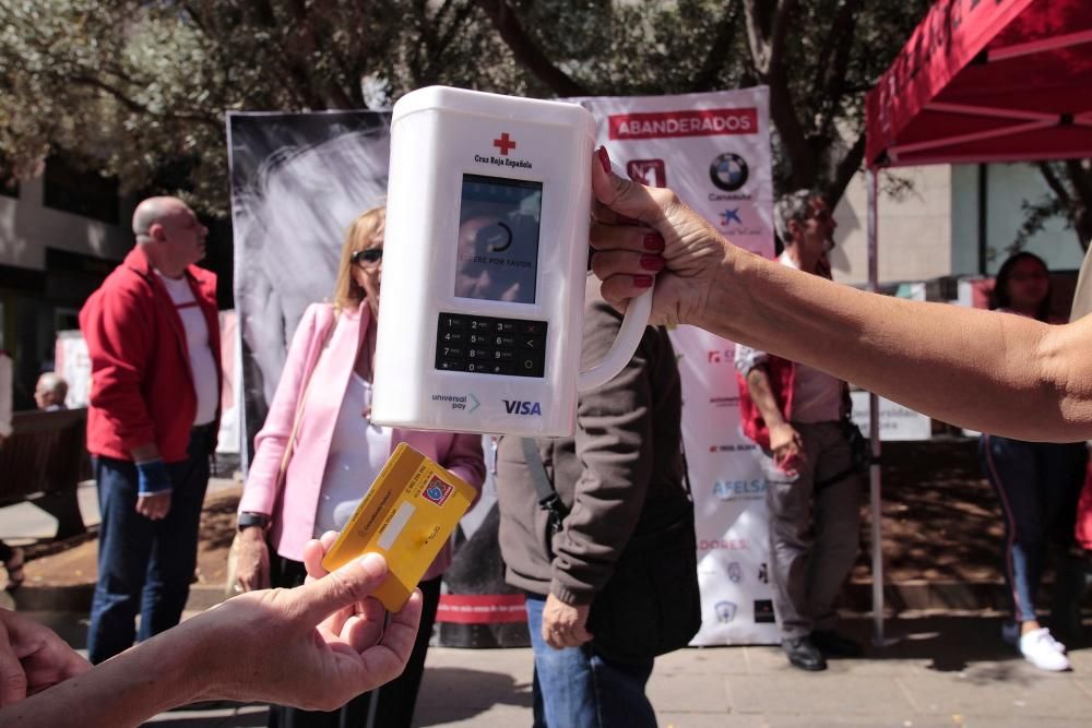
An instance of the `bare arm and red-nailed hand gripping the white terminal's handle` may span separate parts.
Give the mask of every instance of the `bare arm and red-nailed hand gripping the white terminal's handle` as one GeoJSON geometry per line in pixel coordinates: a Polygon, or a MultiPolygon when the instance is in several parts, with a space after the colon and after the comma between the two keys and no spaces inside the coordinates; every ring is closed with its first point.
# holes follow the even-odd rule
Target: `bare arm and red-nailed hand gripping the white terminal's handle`
{"type": "Polygon", "coordinates": [[[592,167],[593,268],[612,303],[624,308],[652,283],[640,264],[651,228],[665,260],[654,322],[701,326],[954,425],[1092,438],[1092,318],[1051,326],[839,286],[736,248],[670,190],[592,167]]]}

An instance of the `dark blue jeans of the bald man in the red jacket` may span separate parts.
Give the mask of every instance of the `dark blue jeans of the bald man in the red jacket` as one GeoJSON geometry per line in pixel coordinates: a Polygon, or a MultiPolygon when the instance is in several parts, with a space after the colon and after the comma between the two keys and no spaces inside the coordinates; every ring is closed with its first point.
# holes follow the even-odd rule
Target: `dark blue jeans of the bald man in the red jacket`
{"type": "Polygon", "coordinates": [[[168,463],[170,510],[162,521],[136,513],[136,468],[129,461],[95,458],[98,509],[98,583],[87,628],[87,656],[98,664],[178,624],[198,556],[201,504],[209,486],[212,426],[193,428],[189,458],[168,463]]]}

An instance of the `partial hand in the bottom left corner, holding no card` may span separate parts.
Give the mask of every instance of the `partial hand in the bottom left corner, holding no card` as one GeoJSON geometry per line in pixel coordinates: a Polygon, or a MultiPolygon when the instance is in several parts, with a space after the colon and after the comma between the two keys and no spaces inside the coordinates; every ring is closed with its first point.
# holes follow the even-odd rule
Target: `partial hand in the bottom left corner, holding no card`
{"type": "Polygon", "coordinates": [[[0,707],[90,669],[52,630],[0,609],[0,707]]]}

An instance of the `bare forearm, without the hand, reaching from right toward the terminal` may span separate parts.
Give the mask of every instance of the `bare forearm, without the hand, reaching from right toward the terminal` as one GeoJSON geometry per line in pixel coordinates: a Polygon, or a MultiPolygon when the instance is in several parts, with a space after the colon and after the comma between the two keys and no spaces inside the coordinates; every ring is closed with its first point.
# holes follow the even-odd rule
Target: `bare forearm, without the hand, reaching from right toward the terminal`
{"type": "Polygon", "coordinates": [[[1049,326],[877,296],[731,253],[699,325],[947,422],[1025,440],[1092,437],[1092,320],[1049,326]]]}

